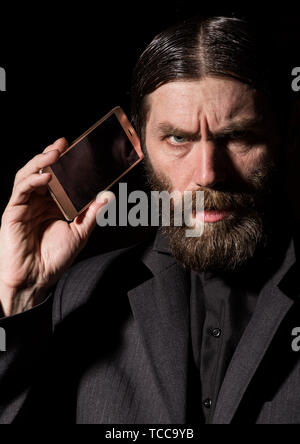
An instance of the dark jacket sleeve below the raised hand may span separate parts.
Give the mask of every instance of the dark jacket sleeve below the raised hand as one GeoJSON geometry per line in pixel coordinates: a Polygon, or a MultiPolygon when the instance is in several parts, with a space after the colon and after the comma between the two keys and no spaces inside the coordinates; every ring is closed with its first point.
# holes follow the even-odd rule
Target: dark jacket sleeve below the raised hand
{"type": "Polygon", "coordinates": [[[38,306],[0,318],[0,424],[37,419],[49,405],[51,390],[45,387],[53,358],[53,301],[64,281],[65,275],[38,306]],[[37,393],[43,396],[32,402],[37,393]]]}

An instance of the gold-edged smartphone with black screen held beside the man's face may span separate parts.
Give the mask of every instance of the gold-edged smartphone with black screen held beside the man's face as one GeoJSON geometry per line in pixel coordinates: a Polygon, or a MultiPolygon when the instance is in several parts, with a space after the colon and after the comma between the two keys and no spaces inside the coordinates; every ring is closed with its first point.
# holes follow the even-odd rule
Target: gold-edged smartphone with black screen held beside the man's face
{"type": "Polygon", "coordinates": [[[50,167],[49,191],[68,221],[143,159],[139,138],[120,106],[76,139],[50,167]]]}

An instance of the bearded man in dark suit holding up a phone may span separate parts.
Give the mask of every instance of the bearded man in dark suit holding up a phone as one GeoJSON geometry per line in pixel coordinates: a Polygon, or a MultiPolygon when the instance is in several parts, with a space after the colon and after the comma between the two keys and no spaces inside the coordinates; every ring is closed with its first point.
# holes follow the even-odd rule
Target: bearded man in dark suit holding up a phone
{"type": "Polygon", "coordinates": [[[1,422],[300,422],[288,113],[266,42],[243,20],[194,19],[136,65],[148,182],[204,192],[201,236],[173,224],[69,268],[105,202],[61,220],[38,173],[63,139],[17,173],[0,233],[1,422]]]}

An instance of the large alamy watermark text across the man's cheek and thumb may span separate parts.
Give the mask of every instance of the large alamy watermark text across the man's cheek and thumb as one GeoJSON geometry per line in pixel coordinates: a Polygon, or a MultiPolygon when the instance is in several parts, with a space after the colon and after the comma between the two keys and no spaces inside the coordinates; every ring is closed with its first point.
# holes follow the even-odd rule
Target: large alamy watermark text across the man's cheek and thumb
{"type": "Polygon", "coordinates": [[[98,194],[97,201],[107,203],[97,213],[97,223],[105,226],[185,226],[186,237],[199,237],[204,230],[203,191],[151,191],[150,198],[145,191],[136,190],[128,194],[127,184],[119,183],[119,207],[117,221],[116,196],[111,191],[98,194]],[[193,208],[193,193],[195,202],[193,208]],[[174,203],[171,210],[171,201],[174,203]],[[135,204],[128,211],[128,204],[135,204]],[[171,212],[173,221],[171,221],[171,212]],[[117,223],[118,222],[118,223],[117,223]]]}

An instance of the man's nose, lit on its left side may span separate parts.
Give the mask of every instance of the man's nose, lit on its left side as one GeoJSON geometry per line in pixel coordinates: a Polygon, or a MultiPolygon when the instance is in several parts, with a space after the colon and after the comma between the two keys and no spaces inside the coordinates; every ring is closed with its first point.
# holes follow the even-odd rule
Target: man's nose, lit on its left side
{"type": "Polygon", "coordinates": [[[193,181],[198,186],[212,188],[226,177],[226,161],[221,147],[212,140],[203,140],[195,147],[193,181]]]}

